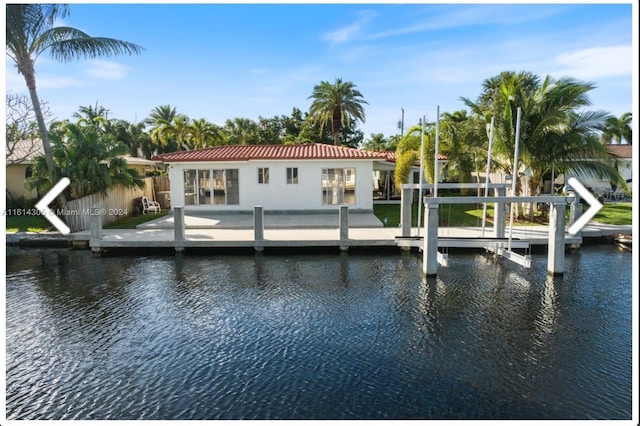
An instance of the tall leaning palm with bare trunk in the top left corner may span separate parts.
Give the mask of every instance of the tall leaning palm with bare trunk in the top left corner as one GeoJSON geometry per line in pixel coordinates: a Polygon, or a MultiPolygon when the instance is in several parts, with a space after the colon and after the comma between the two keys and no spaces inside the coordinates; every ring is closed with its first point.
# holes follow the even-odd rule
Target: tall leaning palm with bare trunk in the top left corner
{"type": "Polygon", "coordinates": [[[53,171],[55,164],[51,144],[36,90],[35,61],[47,51],[53,59],[68,62],[80,58],[139,54],[143,48],[113,38],[91,37],[71,27],[54,27],[56,19],[69,14],[67,5],[7,4],[6,13],[7,56],[15,62],[29,89],[47,167],[53,171]]]}

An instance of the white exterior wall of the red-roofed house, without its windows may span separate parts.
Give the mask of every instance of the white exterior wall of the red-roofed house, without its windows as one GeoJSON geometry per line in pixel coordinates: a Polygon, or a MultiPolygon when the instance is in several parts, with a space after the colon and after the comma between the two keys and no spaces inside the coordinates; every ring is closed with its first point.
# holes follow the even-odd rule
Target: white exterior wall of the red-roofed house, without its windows
{"type": "Polygon", "coordinates": [[[172,206],[184,206],[189,211],[249,211],[262,206],[265,211],[335,210],[335,204],[323,204],[323,169],[355,169],[355,198],[350,208],[373,209],[372,160],[260,160],[224,162],[170,163],[172,206]],[[269,169],[269,183],[258,183],[258,169],[269,169]],[[287,168],[298,169],[298,183],[287,183],[287,168]],[[185,203],[184,171],[188,169],[237,169],[238,204],[187,205],[185,203]]]}

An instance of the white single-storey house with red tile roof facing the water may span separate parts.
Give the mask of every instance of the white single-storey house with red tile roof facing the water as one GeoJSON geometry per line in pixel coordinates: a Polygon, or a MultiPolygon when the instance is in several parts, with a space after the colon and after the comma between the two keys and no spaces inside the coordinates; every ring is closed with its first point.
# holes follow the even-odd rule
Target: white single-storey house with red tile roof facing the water
{"type": "Polygon", "coordinates": [[[171,205],[185,211],[373,209],[373,171],[387,155],[326,144],[228,145],[159,154],[171,205]]]}

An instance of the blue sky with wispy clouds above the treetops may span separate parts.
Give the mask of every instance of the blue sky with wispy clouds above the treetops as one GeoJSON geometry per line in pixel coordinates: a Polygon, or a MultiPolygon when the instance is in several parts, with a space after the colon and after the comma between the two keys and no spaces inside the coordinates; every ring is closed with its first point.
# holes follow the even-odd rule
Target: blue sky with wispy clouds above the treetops
{"type": "MultiPolygon", "coordinates": [[[[219,125],[257,120],[307,111],[313,86],[341,77],[369,103],[365,136],[390,136],[401,108],[405,127],[433,121],[437,106],[464,109],[460,97],[475,100],[505,70],[593,82],[591,109],[617,116],[632,111],[638,77],[630,3],[71,4],[70,12],[61,24],[146,50],[67,64],[40,57],[39,94],[58,119],[97,102],[132,122],[165,104],[219,125]]],[[[7,90],[25,91],[9,59],[6,70],[7,90]]]]}

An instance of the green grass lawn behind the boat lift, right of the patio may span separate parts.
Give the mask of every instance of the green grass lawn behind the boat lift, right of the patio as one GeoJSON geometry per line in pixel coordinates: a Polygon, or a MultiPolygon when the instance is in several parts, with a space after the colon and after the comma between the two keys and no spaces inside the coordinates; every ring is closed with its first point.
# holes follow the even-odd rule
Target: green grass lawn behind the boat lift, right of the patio
{"type": "MultiPolygon", "coordinates": [[[[584,207],[586,211],[587,206],[584,207]]],[[[568,212],[567,208],[567,212],[568,212]]],[[[400,204],[374,204],[374,214],[385,223],[386,227],[397,227],[400,224],[400,204]]],[[[443,204],[439,208],[440,224],[442,226],[482,226],[482,204],[443,204]]],[[[509,214],[505,215],[509,218],[509,214]]],[[[593,218],[596,222],[609,225],[631,225],[631,203],[607,203],[593,218]]],[[[487,225],[493,224],[493,205],[487,205],[487,225]]],[[[412,206],[411,226],[417,226],[418,212],[416,205],[412,206]]],[[[516,225],[541,225],[544,221],[516,220],[516,225]]],[[[548,222],[547,222],[548,223],[548,222]]]]}

